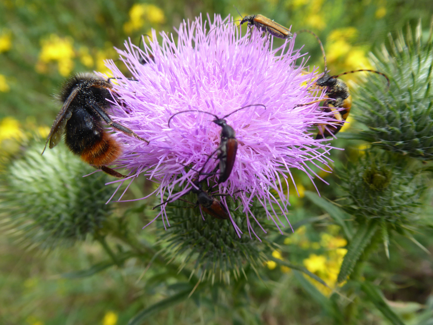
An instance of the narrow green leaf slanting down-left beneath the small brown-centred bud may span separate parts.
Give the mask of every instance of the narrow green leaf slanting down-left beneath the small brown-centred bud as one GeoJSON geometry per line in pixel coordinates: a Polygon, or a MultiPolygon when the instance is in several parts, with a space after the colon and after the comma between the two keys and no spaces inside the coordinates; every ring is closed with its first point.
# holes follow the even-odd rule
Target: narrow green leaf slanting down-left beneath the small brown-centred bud
{"type": "Polygon", "coordinates": [[[338,274],[337,282],[341,283],[352,274],[353,268],[364,251],[365,247],[370,243],[373,235],[377,230],[377,223],[370,221],[369,223],[362,224],[355,236],[353,236],[349,247],[347,247],[347,253],[344,257],[343,263],[341,264],[340,273],[338,274]]]}

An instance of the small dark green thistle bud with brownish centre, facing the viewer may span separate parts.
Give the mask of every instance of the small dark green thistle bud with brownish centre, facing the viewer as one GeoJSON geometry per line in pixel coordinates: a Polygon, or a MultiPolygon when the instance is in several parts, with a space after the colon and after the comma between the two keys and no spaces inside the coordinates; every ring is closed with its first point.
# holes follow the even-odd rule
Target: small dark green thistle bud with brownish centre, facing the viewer
{"type": "Polygon", "coordinates": [[[410,172],[408,162],[392,158],[386,152],[367,151],[340,175],[346,211],[360,221],[380,218],[396,229],[415,221],[425,186],[410,172]]]}

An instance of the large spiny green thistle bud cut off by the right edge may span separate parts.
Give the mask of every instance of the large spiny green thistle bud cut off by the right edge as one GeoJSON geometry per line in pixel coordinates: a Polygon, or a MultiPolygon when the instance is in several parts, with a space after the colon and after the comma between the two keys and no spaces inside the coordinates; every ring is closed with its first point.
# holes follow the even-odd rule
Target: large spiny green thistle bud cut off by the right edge
{"type": "Polygon", "coordinates": [[[382,48],[372,55],[378,71],[388,75],[388,90],[379,77],[369,78],[359,88],[357,120],[368,129],[355,134],[386,150],[423,160],[433,159],[433,29],[427,41],[421,24],[413,38],[410,28],[404,38],[390,36],[391,51],[382,48]]]}

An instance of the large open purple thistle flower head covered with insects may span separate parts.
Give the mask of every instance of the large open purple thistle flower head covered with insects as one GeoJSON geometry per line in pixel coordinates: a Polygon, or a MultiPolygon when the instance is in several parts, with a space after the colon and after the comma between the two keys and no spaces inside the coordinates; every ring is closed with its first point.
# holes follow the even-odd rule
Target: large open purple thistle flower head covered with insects
{"type": "MultiPolygon", "coordinates": [[[[108,63],[117,78],[114,91],[119,97],[111,115],[150,140],[147,145],[117,133],[125,143],[118,166],[129,169],[131,178],[144,173],[158,182],[152,194],[163,202],[190,192],[197,177],[217,183],[218,175],[205,175],[218,165],[217,159],[208,159],[221,143],[221,127],[213,120],[230,114],[225,120],[236,133],[236,160],[228,180],[213,190],[228,194],[217,197],[226,207],[227,200],[239,200],[238,208],[245,213],[252,237],[250,219],[259,223],[250,210],[253,200],[265,208],[267,218],[278,228],[284,227],[280,219],[284,215],[288,221],[291,169],[306,172],[311,180],[314,176],[320,179],[312,166],[328,166],[332,147],[314,140],[312,131],[332,118],[318,109],[319,103],[296,106],[317,101],[323,93],[308,90],[317,71],[306,71],[306,60],[300,50],[294,50],[294,39],[271,49],[272,39],[257,29],[242,36],[229,19],[215,16],[210,23],[209,16],[207,21],[200,16],[192,23],[184,22],[177,30],[177,42],[165,33],[158,42],[153,31],[144,51],[126,42],[126,50],[118,52],[132,78],[108,63]],[[301,65],[296,64],[297,59],[301,65]],[[148,63],[143,65],[143,61],[148,63]],[[254,106],[238,110],[247,105],[254,106]],[[170,117],[184,110],[188,111],[177,114],[168,126],[170,117]]],[[[165,207],[161,206],[158,216],[169,225],[165,207]]],[[[240,236],[241,229],[231,216],[230,220],[240,236]]]]}

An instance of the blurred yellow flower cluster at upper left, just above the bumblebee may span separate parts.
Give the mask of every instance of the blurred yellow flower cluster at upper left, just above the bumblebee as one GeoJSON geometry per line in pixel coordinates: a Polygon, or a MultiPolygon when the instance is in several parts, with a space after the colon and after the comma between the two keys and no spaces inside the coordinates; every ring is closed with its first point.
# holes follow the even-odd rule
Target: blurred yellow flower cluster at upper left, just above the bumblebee
{"type": "Polygon", "coordinates": [[[71,37],[59,37],[55,34],[51,34],[48,39],[42,40],[36,70],[45,72],[48,62],[57,61],[58,72],[62,76],[69,75],[74,68],[74,61],[72,60],[75,57],[73,43],[74,40],[71,37]]]}

